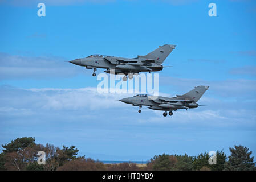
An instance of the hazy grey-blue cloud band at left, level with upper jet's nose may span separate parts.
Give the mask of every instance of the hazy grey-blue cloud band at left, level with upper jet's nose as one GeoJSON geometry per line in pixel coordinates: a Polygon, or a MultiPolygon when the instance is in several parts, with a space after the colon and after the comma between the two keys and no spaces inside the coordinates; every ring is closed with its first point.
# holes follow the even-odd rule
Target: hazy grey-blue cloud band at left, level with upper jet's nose
{"type": "Polygon", "coordinates": [[[0,53],[0,80],[70,77],[81,69],[62,57],[28,57],[0,53]]]}

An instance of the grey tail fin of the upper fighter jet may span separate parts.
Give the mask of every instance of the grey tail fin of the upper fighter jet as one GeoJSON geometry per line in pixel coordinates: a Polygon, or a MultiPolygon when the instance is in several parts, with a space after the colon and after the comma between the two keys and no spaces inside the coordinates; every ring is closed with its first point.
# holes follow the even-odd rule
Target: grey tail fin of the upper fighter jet
{"type": "Polygon", "coordinates": [[[162,64],[164,60],[166,59],[167,56],[172,52],[173,49],[175,49],[176,45],[170,45],[170,44],[165,44],[164,46],[159,46],[158,49],[155,51],[152,51],[148,53],[145,56],[141,57],[146,57],[148,59],[155,59],[156,63],[162,64]]]}

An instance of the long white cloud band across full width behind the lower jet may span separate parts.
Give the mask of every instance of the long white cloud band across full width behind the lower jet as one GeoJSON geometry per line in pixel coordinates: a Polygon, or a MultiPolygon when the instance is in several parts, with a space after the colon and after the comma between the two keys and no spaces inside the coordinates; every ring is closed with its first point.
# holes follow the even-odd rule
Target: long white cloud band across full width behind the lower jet
{"type": "MultiPolygon", "coordinates": [[[[78,115],[68,115],[70,119],[96,117],[92,113],[116,111],[122,121],[132,119],[132,123],[147,125],[170,122],[177,124],[196,124],[210,126],[241,125],[241,122],[251,125],[255,122],[256,112],[253,103],[239,103],[236,101],[222,101],[217,98],[204,97],[200,104],[206,107],[197,109],[173,111],[172,117],[163,117],[163,111],[150,110],[143,106],[143,112],[138,115],[137,107],[120,102],[121,98],[131,97],[133,94],[98,93],[96,88],[80,89],[15,89],[3,87],[0,89],[0,114],[3,116],[34,115],[39,113],[76,112],[78,115]],[[14,114],[15,113],[15,114],[14,114]],[[136,119],[134,119],[136,118],[136,119]],[[234,123],[233,123],[234,122],[234,123]]],[[[96,119],[96,118],[95,118],[96,119]]],[[[99,118],[100,119],[100,118],[99,118]]],[[[102,119],[102,118],[101,118],[102,119]]],[[[117,118],[113,118],[117,119],[117,118]]]]}

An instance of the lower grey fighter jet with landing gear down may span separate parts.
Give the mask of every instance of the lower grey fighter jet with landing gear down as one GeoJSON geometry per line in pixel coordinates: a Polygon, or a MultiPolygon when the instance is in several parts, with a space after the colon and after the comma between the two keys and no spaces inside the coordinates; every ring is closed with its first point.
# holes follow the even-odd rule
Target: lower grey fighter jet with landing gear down
{"type": "Polygon", "coordinates": [[[167,116],[167,111],[169,115],[173,115],[173,110],[178,109],[192,109],[197,108],[197,101],[202,97],[209,86],[196,86],[193,90],[183,95],[176,95],[176,97],[157,97],[149,96],[147,94],[139,94],[133,97],[123,98],[120,101],[132,104],[132,106],[139,106],[139,113],[141,113],[142,106],[149,106],[149,109],[153,110],[164,110],[164,117],[167,116]]]}

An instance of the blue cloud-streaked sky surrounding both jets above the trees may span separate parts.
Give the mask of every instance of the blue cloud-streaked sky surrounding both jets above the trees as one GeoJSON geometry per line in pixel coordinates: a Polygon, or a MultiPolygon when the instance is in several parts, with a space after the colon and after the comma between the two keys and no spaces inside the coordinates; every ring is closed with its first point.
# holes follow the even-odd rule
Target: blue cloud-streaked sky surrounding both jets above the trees
{"type": "MultiPolygon", "coordinates": [[[[0,1],[0,143],[31,136],[100,160],[197,155],[242,144],[256,154],[255,1],[0,1]],[[46,4],[38,17],[37,4],[46,4]],[[208,5],[217,5],[217,17],[208,5]],[[93,53],[136,57],[176,44],[159,92],[209,90],[206,107],[162,111],[100,94],[90,69],[64,62],[93,53]]],[[[97,73],[103,72],[102,69],[97,73]]]]}

